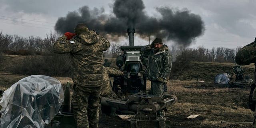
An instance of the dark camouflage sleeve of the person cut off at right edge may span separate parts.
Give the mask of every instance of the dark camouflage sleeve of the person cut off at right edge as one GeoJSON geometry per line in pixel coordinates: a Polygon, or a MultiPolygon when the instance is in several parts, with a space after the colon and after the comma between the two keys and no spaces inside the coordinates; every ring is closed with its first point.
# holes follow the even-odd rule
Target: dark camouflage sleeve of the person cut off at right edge
{"type": "Polygon", "coordinates": [[[256,41],[244,46],[236,54],[236,63],[248,65],[256,62],[256,41]]]}

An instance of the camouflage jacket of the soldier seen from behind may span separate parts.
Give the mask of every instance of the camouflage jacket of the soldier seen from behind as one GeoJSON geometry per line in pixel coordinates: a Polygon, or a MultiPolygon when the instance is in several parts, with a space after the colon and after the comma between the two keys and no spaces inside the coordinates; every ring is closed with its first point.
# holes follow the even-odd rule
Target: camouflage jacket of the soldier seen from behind
{"type": "Polygon", "coordinates": [[[70,53],[72,61],[72,80],[78,86],[99,87],[103,77],[103,51],[110,42],[90,30],[67,40],[61,36],[54,43],[55,53],[70,53]]]}

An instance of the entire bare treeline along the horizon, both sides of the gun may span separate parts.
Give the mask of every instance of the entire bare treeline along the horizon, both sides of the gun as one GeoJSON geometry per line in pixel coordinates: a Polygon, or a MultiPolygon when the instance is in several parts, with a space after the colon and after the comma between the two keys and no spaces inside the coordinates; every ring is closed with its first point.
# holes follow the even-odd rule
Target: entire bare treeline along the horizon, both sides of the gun
{"type": "MultiPolygon", "coordinates": [[[[29,36],[24,38],[18,35],[2,34],[0,32],[0,52],[14,55],[49,55],[52,54],[52,46],[60,37],[56,33],[46,34],[45,38],[29,36]]],[[[127,44],[125,44],[127,45],[127,44]]],[[[121,54],[120,44],[112,44],[104,52],[105,57],[116,57],[121,54]]],[[[232,57],[236,55],[238,48],[171,48],[174,58],[186,58],[189,61],[200,62],[233,62],[232,57]]]]}

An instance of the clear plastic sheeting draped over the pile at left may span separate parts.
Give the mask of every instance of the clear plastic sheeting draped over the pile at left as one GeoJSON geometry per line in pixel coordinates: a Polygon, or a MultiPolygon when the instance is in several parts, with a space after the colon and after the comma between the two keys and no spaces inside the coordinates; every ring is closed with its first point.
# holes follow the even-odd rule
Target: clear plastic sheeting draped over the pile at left
{"type": "Polygon", "coordinates": [[[60,81],[33,75],[13,84],[0,101],[0,128],[44,128],[64,99],[60,81]]]}

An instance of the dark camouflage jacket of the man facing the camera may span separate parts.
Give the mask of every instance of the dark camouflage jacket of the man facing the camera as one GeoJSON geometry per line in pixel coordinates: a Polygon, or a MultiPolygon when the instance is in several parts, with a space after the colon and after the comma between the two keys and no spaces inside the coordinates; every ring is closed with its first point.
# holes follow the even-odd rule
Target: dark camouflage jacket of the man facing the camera
{"type": "Polygon", "coordinates": [[[143,57],[148,58],[147,72],[149,80],[155,81],[158,77],[162,77],[165,80],[169,79],[172,69],[172,56],[169,53],[168,46],[163,45],[154,54],[154,48],[146,45],[142,47],[141,53],[143,57]]]}

